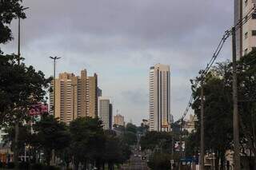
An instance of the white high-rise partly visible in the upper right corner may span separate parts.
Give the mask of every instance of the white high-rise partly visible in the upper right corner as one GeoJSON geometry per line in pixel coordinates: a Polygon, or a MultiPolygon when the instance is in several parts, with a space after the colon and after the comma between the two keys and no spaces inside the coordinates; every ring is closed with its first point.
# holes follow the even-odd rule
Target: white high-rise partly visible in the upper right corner
{"type": "Polygon", "coordinates": [[[248,21],[236,31],[236,51],[240,58],[256,47],[256,14],[246,16],[255,6],[256,0],[234,0],[234,25],[242,18],[248,17],[248,21]]]}

